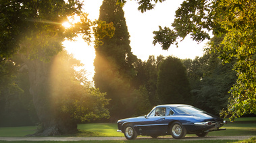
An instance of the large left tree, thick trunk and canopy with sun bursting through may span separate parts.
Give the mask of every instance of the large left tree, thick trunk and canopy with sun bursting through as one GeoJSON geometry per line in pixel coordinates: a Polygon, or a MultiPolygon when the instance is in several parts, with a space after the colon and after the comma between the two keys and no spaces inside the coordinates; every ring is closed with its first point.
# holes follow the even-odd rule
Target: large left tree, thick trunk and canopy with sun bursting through
{"type": "MultiPolygon", "coordinates": [[[[59,122],[49,107],[47,77],[49,62],[62,49],[63,40],[72,40],[82,33],[90,41],[91,21],[81,11],[80,1],[7,1],[0,2],[0,56],[7,60],[19,54],[28,68],[30,94],[34,107],[43,126],[43,135],[66,134],[76,130],[72,120],[59,122]],[[61,23],[68,17],[80,17],[69,29],[61,23]]],[[[16,61],[14,61],[16,62],[16,61]]]]}

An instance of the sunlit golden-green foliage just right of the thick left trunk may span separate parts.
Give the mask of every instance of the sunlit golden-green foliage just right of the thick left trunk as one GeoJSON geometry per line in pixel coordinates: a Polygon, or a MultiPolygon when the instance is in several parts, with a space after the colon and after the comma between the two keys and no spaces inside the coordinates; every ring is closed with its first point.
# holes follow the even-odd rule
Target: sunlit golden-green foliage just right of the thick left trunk
{"type": "Polygon", "coordinates": [[[105,108],[109,99],[105,99],[106,94],[99,89],[90,87],[91,84],[80,75],[84,73],[78,73],[74,69],[74,66],[81,65],[78,60],[63,51],[55,56],[51,64],[50,101],[56,118],[71,118],[79,123],[109,117],[109,111],[105,108]]]}

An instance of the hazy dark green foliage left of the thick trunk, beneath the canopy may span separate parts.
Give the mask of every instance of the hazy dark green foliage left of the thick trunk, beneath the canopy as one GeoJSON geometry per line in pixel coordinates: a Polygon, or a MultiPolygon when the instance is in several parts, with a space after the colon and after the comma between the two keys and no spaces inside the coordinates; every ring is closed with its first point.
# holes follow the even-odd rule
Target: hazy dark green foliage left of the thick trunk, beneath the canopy
{"type": "Polygon", "coordinates": [[[20,64],[13,60],[0,62],[0,126],[33,126],[38,123],[29,94],[28,71],[19,67],[20,64]]]}

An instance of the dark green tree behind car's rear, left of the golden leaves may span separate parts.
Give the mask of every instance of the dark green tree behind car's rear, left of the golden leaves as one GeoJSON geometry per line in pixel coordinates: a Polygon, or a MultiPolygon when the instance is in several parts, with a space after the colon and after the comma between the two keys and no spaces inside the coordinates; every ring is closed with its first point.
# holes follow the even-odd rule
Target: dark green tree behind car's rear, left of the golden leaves
{"type": "MultiPolygon", "coordinates": [[[[211,41],[221,42],[223,38],[212,38],[211,41]]],[[[193,105],[209,113],[218,115],[228,105],[229,89],[236,83],[236,72],[232,70],[234,60],[222,64],[217,53],[205,49],[203,57],[194,60],[182,60],[188,72],[193,97],[193,105]]]]}

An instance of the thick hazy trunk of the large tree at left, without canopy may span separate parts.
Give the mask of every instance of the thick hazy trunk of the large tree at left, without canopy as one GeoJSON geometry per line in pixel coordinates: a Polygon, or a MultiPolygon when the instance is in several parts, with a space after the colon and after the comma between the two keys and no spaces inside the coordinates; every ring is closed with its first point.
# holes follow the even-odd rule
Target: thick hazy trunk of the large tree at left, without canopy
{"type": "Polygon", "coordinates": [[[63,117],[57,111],[56,102],[51,97],[48,84],[51,62],[24,58],[23,60],[28,66],[30,94],[40,121],[39,130],[32,136],[56,136],[77,132],[77,124],[69,115],[63,117]]]}

